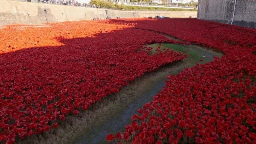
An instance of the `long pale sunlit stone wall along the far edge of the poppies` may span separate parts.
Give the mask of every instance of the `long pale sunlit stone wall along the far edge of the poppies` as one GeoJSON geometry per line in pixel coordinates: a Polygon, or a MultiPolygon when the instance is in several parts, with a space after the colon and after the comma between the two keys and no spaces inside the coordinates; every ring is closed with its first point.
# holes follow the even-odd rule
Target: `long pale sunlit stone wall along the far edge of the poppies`
{"type": "MultiPolygon", "coordinates": [[[[132,18],[164,16],[171,18],[197,17],[197,12],[189,11],[118,11],[107,10],[108,17],[132,18]]],[[[77,20],[106,19],[106,9],[85,8],[66,5],[52,5],[31,2],[0,0],[0,26],[8,24],[41,24],[77,20]],[[46,12],[46,13],[45,13],[46,12]]]]}

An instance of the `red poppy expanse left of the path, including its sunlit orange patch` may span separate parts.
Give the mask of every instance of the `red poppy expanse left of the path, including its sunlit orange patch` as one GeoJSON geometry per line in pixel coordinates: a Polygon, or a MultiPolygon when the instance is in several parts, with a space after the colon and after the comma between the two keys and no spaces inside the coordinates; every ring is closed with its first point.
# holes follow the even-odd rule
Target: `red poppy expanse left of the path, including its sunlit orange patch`
{"type": "Polygon", "coordinates": [[[10,26],[1,36],[0,140],[8,144],[56,128],[67,115],[78,115],[136,77],[187,57],[140,50],[155,42],[183,42],[90,21],[10,26]]]}

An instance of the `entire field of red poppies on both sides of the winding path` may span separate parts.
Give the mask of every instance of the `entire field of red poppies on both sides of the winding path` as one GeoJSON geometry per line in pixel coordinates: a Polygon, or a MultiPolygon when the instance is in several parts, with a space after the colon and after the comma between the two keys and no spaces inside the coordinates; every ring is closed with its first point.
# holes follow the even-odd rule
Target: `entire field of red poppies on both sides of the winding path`
{"type": "Polygon", "coordinates": [[[166,87],[109,141],[256,143],[255,29],[196,19],[120,19],[7,26],[0,41],[3,143],[56,128],[135,78],[187,57],[141,49],[153,43],[193,43],[225,55],[168,76],[166,87]]]}

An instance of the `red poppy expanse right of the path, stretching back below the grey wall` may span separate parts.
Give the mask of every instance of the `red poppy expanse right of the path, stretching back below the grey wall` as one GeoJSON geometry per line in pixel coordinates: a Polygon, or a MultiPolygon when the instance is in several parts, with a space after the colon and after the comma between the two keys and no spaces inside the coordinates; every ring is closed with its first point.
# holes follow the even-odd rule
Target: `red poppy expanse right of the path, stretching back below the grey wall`
{"type": "Polygon", "coordinates": [[[256,30],[195,19],[109,20],[223,53],[187,68],[138,109],[114,143],[256,143],[256,30]]]}

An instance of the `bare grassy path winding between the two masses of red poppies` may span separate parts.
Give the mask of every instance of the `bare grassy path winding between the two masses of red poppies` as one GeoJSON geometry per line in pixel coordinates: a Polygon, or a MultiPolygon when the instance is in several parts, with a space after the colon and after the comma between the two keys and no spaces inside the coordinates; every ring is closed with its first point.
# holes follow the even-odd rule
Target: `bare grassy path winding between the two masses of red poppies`
{"type": "MultiPolygon", "coordinates": [[[[165,51],[167,49],[174,50],[177,52],[182,52],[183,54],[188,54],[188,58],[167,64],[155,71],[152,71],[146,75],[136,78],[135,83],[131,83],[128,87],[133,87],[129,89],[131,92],[123,92],[126,87],[122,88],[118,95],[129,95],[125,97],[125,101],[116,101],[120,103],[119,106],[115,108],[119,109],[116,113],[111,113],[113,116],[105,119],[105,121],[100,124],[94,123],[93,130],[87,129],[80,137],[77,137],[74,142],[76,144],[98,144],[98,143],[108,143],[106,136],[109,133],[116,133],[124,131],[125,125],[132,122],[131,116],[137,114],[137,109],[141,108],[144,104],[153,100],[153,97],[159,93],[165,86],[165,81],[168,80],[166,76],[176,75],[180,73],[185,68],[191,68],[196,65],[196,63],[203,64],[213,61],[213,57],[221,56],[221,53],[213,52],[212,50],[207,50],[202,47],[197,47],[194,45],[183,45],[183,44],[151,44],[147,45],[148,48],[153,48],[150,54],[158,53],[157,48],[161,46],[160,50],[165,51]],[[157,51],[156,51],[157,50],[157,51]],[[203,57],[205,56],[205,57],[203,57]],[[203,60],[200,62],[200,60],[203,60]],[[137,83],[136,83],[137,82],[137,83]],[[138,84],[138,85],[137,85],[138,84]],[[132,93],[132,94],[129,94],[132,93]],[[136,98],[132,99],[132,96],[136,98]],[[132,99],[131,103],[127,103],[129,99],[132,99]]],[[[109,97],[108,97],[109,98],[109,97]]],[[[103,101],[101,101],[103,102],[103,101]]],[[[112,102],[111,102],[112,103],[112,102]]],[[[106,105],[105,105],[106,106],[106,105]]],[[[110,109],[110,108],[109,108],[110,109]]],[[[87,110],[88,111],[88,110],[87,110]]],[[[108,110],[109,111],[109,110],[108,110]]],[[[103,117],[100,116],[102,119],[103,117]]],[[[98,122],[98,120],[97,120],[98,122]]],[[[113,142],[114,143],[114,142],[113,142]]]]}

